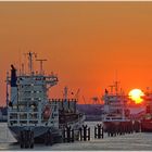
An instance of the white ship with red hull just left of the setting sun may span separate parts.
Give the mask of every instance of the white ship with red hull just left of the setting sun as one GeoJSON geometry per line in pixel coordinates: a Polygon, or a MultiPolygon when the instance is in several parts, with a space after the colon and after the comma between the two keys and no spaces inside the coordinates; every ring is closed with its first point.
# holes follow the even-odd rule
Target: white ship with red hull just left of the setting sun
{"type": "Polygon", "coordinates": [[[122,90],[118,90],[118,81],[115,81],[111,87],[111,92],[105,89],[103,96],[103,114],[102,122],[104,129],[110,125],[119,125],[121,122],[130,121],[130,111],[127,109],[127,96],[122,90]]]}

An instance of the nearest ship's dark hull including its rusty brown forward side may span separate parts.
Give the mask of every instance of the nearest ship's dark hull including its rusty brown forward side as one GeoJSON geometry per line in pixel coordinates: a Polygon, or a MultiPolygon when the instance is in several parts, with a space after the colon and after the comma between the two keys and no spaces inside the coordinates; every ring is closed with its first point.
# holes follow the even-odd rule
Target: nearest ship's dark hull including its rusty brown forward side
{"type": "Polygon", "coordinates": [[[71,126],[75,130],[75,137],[78,136],[78,128],[83,126],[85,122],[85,115],[81,113],[71,114],[66,113],[60,116],[60,127],[47,127],[47,126],[10,126],[9,129],[13,134],[14,138],[20,141],[21,132],[25,130],[30,130],[34,132],[35,143],[45,142],[46,135],[51,134],[52,139],[58,138],[59,141],[62,139],[63,130],[66,126],[71,126]]]}

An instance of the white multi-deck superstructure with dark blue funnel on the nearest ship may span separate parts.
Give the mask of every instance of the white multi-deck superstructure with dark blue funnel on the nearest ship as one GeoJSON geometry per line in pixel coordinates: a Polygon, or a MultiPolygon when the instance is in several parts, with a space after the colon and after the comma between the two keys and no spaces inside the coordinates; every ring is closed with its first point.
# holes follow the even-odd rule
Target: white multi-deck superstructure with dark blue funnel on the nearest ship
{"type": "Polygon", "coordinates": [[[51,124],[59,124],[58,119],[52,117],[54,113],[58,115],[58,111],[54,111],[58,110],[58,105],[49,102],[47,94],[48,87],[54,86],[58,78],[54,75],[16,76],[16,69],[13,65],[11,71],[11,101],[8,109],[8,125],[35,126],[36,124],[37,126],[50,126],[51,124]],[[50,109],[48,117],[46,116],[47,107],[50,109]],[[48,121],[49,118],[51,121],[48,121]]]}

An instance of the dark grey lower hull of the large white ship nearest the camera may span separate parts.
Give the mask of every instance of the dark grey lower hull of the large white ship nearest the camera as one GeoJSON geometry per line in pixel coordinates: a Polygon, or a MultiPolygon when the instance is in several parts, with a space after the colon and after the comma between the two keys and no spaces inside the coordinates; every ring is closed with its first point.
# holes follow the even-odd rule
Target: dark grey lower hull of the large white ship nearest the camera
{"type": "MultiPolygon", "coordinates": [[[[80,119],[68,122],[66,124],[61,124],[60,128],[49,127],[49,126],[9,126],[13,137],[20,142],[21,131],[30,130],[34,132],[34,139],[36,143],[45,142],[46,134],[49,131],[53,139],[61,141],[63,130],[66,126],[71,126],[75,130],[75,139],[78,137],[78,129],[83,126],[85,122],[85,116],[80,119]]],[[[56,141],[58,142],[58,141],[56,141]]]]}

